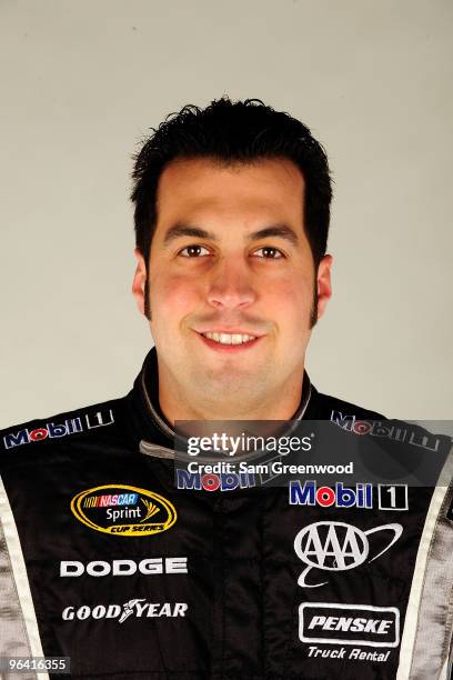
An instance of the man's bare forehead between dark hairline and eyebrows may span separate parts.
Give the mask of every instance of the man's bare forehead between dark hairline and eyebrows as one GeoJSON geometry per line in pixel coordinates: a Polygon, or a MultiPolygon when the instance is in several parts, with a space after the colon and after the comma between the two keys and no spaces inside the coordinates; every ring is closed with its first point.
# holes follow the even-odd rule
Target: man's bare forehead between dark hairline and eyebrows
{"type": "Polygon", "coordinates": [[[304,180],[288,159],[226,166],[214,159],[178,159],[158,186],[158,228],[170,221],[234,218],[303,223],[304,180]]]}

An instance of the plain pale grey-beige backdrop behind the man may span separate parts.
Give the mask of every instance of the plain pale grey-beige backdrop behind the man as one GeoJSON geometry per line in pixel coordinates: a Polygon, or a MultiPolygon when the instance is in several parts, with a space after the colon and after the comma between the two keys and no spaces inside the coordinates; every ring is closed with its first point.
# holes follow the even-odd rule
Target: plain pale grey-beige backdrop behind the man
{"type": "Polygon", "coordinates": [[[450,0],[2,0],[0,427],[125,393],[131,153],[184,103],[299,117],[335,180],[334,297],[308,369],[390,417],[452,417],[450,0]]]}

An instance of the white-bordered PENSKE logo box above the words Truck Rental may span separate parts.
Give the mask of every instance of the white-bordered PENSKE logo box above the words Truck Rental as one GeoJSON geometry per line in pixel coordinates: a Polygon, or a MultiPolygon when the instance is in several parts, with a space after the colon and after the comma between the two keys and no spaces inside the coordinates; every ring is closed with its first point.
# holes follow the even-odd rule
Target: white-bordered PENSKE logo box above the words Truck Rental
{"type": "Polygon", "coordinates": [[[301,642],[397,647],[400,611],[395,607],[302,602],[299,638],[301,642]]]}

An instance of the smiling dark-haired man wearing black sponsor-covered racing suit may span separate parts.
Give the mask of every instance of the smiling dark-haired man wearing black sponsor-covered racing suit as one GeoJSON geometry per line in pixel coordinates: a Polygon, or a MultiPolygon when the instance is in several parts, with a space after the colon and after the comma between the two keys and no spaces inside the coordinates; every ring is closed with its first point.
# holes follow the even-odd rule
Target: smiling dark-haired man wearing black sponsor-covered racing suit
{"type": "Polygon", "coordinates": [[[2,432],[0,654],[74,678],[446,678],[453,579],[429,547],[452,546],[451,490],[174,482],[179,421],[396,438],[304,370],[331,297],[322,147],[223,98],[167,119],[133,180],[155,347],[127,397],[2,432]]]}

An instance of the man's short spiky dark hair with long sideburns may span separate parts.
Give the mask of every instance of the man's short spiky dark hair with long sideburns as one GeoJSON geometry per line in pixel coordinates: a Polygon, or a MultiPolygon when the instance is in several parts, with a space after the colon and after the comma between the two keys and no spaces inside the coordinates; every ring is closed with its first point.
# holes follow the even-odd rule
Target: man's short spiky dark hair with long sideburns
{"type": "Polygon", "coordinates": [[[135,244],[147,266],[157,223],[157,189],[173,159],[212,158],[225,164],[286,158],[305,180],[304,221],[315,268],[325,253],[332,187],[328,158],[309,128],[260,99],[212,101],[205,109],[188,104],[170,113],[134,156],[131,200],[135,206],[135,244]]]}

